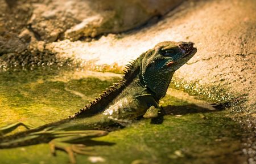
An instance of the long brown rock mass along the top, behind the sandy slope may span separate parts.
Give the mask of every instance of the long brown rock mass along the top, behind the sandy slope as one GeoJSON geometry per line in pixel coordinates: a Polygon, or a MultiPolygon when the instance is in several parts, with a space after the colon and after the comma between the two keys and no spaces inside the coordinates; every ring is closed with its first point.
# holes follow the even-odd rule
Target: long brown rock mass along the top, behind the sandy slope
{"type": "MultiPolygon", "coordinates": [[[[18,8],[25,7],[30,11],[25,14],[30,19],[16,19],[16,22],[23,21],[23,26],[14,26],[14,29],[29,25],[38,41],[54,42],[127,31],[154,16],[166,14],[182,0],[1,1],[0,6],[6,11],[10,6],[19,15],[24,13],[20,13],[18,8]]],[[[6,14],[13,17],[10,11],[6,14]]]]}

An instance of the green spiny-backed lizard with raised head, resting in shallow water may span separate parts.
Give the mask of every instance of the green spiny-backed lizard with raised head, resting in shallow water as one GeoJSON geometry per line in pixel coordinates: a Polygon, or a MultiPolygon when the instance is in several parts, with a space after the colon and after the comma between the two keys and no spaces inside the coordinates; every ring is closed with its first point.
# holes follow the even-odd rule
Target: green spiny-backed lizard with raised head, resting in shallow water
{"type": "Polygon", "coordinates": [[[0,128],[0,149],[49,143],[52,154],[64,150],[71,163],[76,163],[75,153],[91,154],[86,152],[84,144],[76,143],[107,135],[108,127],[125,126],[139,116],[159,115],[159,100],[165,96],[174,72],[196,53],[193,45],[193,42],[160,42],[127,64],[118,83],[68,118],[36,128],[24,123],[0,128]],[[18,126],[28,130],[6,135],[18,126]]]}

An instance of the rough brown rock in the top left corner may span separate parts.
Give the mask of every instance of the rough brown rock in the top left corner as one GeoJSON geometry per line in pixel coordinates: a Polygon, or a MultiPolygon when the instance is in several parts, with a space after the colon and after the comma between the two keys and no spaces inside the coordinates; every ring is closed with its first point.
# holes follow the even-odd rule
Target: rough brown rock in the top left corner
{"type": "Polygon", "coordinates": [[[6,2],[0,0],[0,56],[5,53],[24,51],[30,40],[30,36],[26,36],[26,32],[23,32],[30,18],[30,4],[20,6],[22,1],[6,2]]]}

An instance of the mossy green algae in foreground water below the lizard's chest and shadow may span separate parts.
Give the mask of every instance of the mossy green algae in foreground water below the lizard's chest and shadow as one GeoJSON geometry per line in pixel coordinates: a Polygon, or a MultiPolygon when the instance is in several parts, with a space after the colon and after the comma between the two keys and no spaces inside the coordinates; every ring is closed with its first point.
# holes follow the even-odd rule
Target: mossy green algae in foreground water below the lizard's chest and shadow
{"type": "Polygon", "coordinates": [[[234,155],[241,149],[240,132],[236,123],[220,114],[206,114],[208,119],[202,119],[200,114],[165,116],[160,125],[144,120],[102,137],[101,140],[116,144],[98,150],[109,163],[131,163],[137,159],[147,163],[232,163],[240,160],[234,155]],[[235,159],[227,160],[230,157],[235,159]]]}

